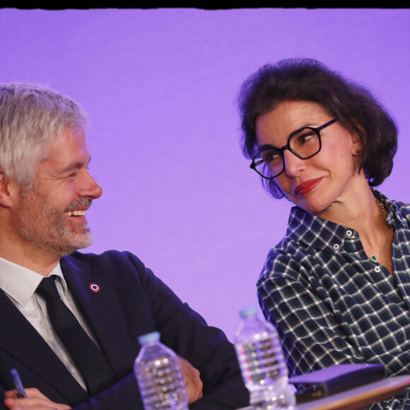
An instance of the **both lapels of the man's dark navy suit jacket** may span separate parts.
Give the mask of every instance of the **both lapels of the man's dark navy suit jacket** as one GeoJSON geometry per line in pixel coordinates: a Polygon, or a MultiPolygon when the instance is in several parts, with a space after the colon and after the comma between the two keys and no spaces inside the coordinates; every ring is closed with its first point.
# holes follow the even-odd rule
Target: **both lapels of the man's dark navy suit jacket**
{"type": "MultiPolygon", "coordinates": [[[[117,380],[129,375],[135,353],[110,277],[74,257],[64,257],[60,264],[67,286],[93,329],[117,380]],[[93,286],[91,290],[92,285],[98,287],[93,286]]],[[[0,312],[0,349],[47,380],[67,402],[74,404],[79,398],[86,400],[88,394],[1,289],[0,312]]]]}

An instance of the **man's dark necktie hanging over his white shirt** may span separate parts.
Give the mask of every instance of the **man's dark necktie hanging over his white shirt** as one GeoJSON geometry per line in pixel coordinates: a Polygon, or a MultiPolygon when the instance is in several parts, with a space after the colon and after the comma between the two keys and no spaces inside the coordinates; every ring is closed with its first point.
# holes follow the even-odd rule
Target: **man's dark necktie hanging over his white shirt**
{"type": "Polygon", "coordinates": [[[36,292],[45,299],[52,327],[80,370],[91,396],[115,383],[104,354],[61,300],[54,276],[42,279],[36,292]]]}

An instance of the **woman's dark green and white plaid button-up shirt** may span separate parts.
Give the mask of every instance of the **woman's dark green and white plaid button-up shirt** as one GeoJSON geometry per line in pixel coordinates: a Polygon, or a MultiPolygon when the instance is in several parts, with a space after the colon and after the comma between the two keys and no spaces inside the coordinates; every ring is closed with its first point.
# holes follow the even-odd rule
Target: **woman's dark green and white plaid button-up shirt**
{"type": "MultiPolygon", "coordinates": [[[[410,374],[410,205],[373,194],[395,231],[394,278],[367,257],[356,230],[296,206],[268,254],[259,304],[278,329],[291,375],[341,363],[410,374]]],[[[372,409],[410,409],[410,390],[372,409]]]]}

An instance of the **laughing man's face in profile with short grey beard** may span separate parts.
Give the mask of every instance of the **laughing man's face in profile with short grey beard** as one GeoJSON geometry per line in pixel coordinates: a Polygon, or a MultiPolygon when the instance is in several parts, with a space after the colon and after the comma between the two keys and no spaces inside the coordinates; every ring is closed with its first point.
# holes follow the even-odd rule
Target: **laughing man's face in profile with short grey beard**
{"type": "Polygon", "coordinates": [[[102,194],[88,172],[83,127],[66,127],[40,163],[36,189],[23,190],[13,226],[25,242],[58,257],[91,245],[86,210],[102,194]]]}

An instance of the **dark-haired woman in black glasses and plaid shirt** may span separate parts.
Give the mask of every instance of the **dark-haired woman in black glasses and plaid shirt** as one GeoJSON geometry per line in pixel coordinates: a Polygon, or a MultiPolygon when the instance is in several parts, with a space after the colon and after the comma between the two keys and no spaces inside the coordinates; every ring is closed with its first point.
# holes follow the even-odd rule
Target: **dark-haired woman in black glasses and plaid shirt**
{"type": "MultiPolygon", "coordinates": [[[[373,188],[392,171],[394,120],[312,59],[263,66],[238,106],[250,168],[295,205],[257,281],[291,375],[341,363],[410,374],[410,206],[373,188]]],[[[402,409],[406,394],[373,408],[402,409]]]]}

